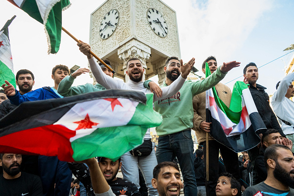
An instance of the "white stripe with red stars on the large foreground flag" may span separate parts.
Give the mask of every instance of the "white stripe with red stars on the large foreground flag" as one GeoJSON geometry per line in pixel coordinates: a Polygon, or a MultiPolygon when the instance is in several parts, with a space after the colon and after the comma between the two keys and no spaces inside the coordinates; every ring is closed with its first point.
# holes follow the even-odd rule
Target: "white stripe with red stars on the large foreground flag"
{"type": "Polygon", "coordinates": [[[139,102],[127,98],[117,99],[122,106],[115,105],[113,111],[111,102],[105,99],[77,103],[56,121],[54,125],[63,125],[70,130],[75,130],[79,125],[74,122],[84,120],[87,114],[92,122],[98,123],[98,125],[92,126],[92,129],[76,130],[76,136],[71,138],[71,142],[91,134],[97,128],[127,125],[132,119],[139,102]]]}

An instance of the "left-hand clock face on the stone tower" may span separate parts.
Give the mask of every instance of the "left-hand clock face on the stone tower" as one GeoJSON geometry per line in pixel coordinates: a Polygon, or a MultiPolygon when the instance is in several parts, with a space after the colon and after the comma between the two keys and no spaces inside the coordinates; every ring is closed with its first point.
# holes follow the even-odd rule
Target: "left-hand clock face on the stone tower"
{"type": "Polygon", "coordinates": [[[116,9],[111,9],[105,14],[99,28],[99,35],[103,40],[106,40],[114,33],[118,21],[119,13],[116,9]]]}

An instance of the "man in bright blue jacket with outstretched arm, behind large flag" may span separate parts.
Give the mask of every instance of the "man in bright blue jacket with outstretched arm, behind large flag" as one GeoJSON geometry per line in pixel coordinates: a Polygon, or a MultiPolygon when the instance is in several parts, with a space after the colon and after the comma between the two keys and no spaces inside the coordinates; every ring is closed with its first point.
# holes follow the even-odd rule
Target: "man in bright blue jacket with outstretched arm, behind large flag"
{"type": "MultiPolygon", "coordinates": [[[[52,69],[51,78],[54,87],[42,87],[24,95],[21,95],[15,88],[5,81],[3,84],[7,98],[14,105],[19,105],[25,101],[45,100],[50,98],[63,98],[57,93],[60,81],[69,74],[68,67],[56,65],[52,69]]],[[[67,162],[59,161],[57,156],[39,156],[39,175],[43,186],[43,196],[67,196],[70,190],[72,173],[67,162]],[[55,184],[55,189],[54,189],[55,184]]]]}

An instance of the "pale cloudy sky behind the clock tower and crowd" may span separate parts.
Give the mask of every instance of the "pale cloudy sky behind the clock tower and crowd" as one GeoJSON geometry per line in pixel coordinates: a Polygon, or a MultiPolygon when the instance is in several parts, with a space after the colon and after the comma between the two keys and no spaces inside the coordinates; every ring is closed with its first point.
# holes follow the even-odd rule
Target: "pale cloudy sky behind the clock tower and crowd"
{"type": "MultiPolygon", "coordinates": [[[[90,15],[104,0],[71,0],[71,7],[62,13],[62,26],[76,38],[89,43],[90,15]]],[[[231,70],[223,84],[242,76],[249,62],[262,66],[287,52],[294,44],[293,0],[163,0],[177,13],[181,57],[185,61],[196,58],[195,67],[201,70],[206,57],[213,55],[218,65],[237,60],[241,66],[231,70]]],[[[53,86],[51,70],[56,64],[71,68],[88,67],[87,57],[76,42],[62,32],[57,54],[48,54],[44,27],[21,9],[5,0],[0,1],[0,27],[13,15],[9,39],[14,73],[29,69],[35,75],[35,86],[53,86]]],[[[273,94],[284,76],[285,65],[294,52],[259,69],[258,84],[273,94]]],[[[204,76],[201,71],[196,74],[204,76]]],[[[153,78],[157,82],[156,77],[153,78]]],[[[228,84],[231,89],[234,80],[228,84]]],[[[92,83],[89,74],[80,76],[74,85],[92,83]]]]}

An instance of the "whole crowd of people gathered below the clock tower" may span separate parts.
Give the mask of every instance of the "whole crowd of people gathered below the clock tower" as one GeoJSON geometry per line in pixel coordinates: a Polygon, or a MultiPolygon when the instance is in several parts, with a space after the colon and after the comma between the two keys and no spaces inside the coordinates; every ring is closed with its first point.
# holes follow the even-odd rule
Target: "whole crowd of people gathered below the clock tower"
{"type": "MultiPolygon", "coordinates": [[[[186,78],[195,58],[184,64],[178,57],[170,57],[164,66],[166,79],[158,87],[150,80],[143,80],[144,68],[139,58],[133,57],[126,62],[130,80],[125,83],[114,79],[112,72],[94,59],[88,44],[78,43],[78,47],[88,58],[96,85],[73,86],[78,76],[90,70],[80,68],[70,74],[67,66],[56,65],[51,75],[53,87],[33,90],[34,74],[27,69],[19,70],[16,73],[19,91],[7,81],[2,85],[0,118],[25,101],[108,89],[151,92],[154,110],[163,118],[162,124],[156,127],[159,136],[156,152],[149,129],[141,146],[117,160],[96,157],[83,162],[64,162],[55,156],[6,152],[0,154],[1,196],[179,196],[181,189],[186,196],[294,196],[294,102],[290,99],[294,96],[294,73],[277,84],[272,97],[273,111],[266,88],[256,83],[257,66],[254,63],[245,66],[244,82],[267,130],[257,130],[260,144],[240,157],[209,136],[209,164],[206,165],[205,135],[210,132],[211,122],[206,122],[205,91],[215,87],[219,98],[229,107],[232,92],[220,81],[228,71],[239,67],[240,62],[218,66],[216,58],[209,56],[202,64],[202,71],[205,73],[207,63],[211,75],[190,81],[186,78]],[[195,153],[192,129],[199,144],[195,153]],[[117,177],[119,169],[123,179],[117,177]]],[[[103,61],[111,68],[108,60],[103,61]]]]}

